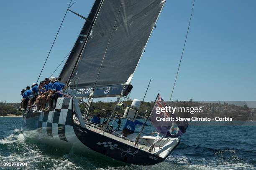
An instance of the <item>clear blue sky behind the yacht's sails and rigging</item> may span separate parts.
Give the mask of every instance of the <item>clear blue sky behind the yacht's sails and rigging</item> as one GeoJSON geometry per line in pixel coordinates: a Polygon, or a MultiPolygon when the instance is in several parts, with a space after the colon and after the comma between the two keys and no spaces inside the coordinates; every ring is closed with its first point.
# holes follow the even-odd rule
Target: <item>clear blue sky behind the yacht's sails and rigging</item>
{"type": "MultiPolygon", "coordinates": [[[[77,0],[71,10],[87,16],[93,2],[77,0]]],[[[0,101],[20,102],[20,90],[36,82],[68,4],[1,2],[0,101]]],[[[169,100],[191,7],[190,0],[166,1],[133,77],[130,97],[142,99],[152,79],[146,101],[158,92],[169,100]]],[[[256,100],[255,7],[254,0],[195,1],[173,100],[256,100]]],[[[67,14],[40,80],[64,59],[83,24],[83,19],[67,14]]]]}

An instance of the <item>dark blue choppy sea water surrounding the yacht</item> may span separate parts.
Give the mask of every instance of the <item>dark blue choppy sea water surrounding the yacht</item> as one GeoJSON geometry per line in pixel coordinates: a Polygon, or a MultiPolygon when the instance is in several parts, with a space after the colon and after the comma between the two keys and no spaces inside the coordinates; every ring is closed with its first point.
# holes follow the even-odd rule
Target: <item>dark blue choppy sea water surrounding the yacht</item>
{"type": "Polygon", "coordinates": [[[256,126],[189,126],[173,153],[153,166],[127,165],[105,156],[64,153],[24,138],[21,117],[0,117],[0,169],[25,162],[37,170],[251,170],[256,169],[256,126]]]}

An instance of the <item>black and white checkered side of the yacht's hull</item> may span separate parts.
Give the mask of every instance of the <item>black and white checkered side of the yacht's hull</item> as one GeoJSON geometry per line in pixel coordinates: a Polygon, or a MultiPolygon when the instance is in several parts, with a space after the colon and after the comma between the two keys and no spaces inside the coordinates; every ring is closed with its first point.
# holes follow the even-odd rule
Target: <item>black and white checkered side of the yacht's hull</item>
{"type": "Polygon", "coordinates": [[[74,133],[73,97],[58,98],[54,111],[29,115],[25,121],[23,119],[23,129],[29,129],[25,132],[28,138],[35,138],[43,143],[87,148],[74,133]],[[29,124],[29,119],[34,119],[34,123],[29,124]],[[33,130],[33,135],[29,135],[30,130],[33,130]]]}

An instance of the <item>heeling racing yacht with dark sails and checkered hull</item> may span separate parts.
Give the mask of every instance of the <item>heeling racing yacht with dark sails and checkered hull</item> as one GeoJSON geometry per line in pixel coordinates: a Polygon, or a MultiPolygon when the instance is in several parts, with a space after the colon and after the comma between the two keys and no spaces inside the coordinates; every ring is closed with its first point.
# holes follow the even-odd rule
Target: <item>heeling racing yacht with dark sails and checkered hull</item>
{"type": "MultiPolygon", "coordinates": [[[[50,112],[26,112],[22,130],[26,137],[49,145],[96,152],[129,164],[154,165],[168,157],[179,144],[143,130],[151,112],[140,110],[141,102],[127,96],[131,80],[154,30],[165,0],[95,0],[84,26],[59,75],[67,85],[50,112]],[[88,119],[93,99],[118,97],[113,110],[97,108],[102,124],[88,119]],[[125,104],[124,101],[132,104],[125,104]],[[81,110],[83,106],[84,110],[81,110]],[[123,117],[124,119],[121,119],[123,117]],[[124,135],[123,120],[143,121],[141,131],[124,135]]],[[[161,97],[156,98],[154,107],[161,97]]],[[[149,119],[150,121],[150,119],[149,119]]]]}

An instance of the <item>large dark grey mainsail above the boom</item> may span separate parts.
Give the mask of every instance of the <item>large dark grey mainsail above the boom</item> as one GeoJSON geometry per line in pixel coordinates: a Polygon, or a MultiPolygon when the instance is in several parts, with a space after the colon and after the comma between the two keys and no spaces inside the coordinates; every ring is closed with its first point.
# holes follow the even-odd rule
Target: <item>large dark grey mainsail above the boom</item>
{"type": "Polygon", "coordinates": [[[69,86],[86,96],[120,95],[131,82],[165,0],[103,0],[69,86]],[[97,78],[97,75],[98,78],[97,78]],[[99,94],[97,94],[97,89],[99,94]]]}

